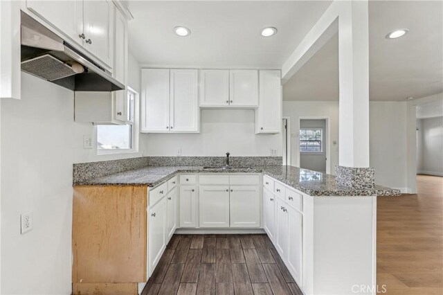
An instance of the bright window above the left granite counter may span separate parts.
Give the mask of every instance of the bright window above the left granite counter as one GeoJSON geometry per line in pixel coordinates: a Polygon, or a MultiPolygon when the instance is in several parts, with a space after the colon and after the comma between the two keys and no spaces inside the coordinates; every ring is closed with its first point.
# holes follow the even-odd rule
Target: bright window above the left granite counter
{"type": "Polygon", "coordinates": [[[97,153],[114,154],[136,152],[138,124],[136,92],[127,91],[127,122],[125,125],[97,125],[97,153]]]}

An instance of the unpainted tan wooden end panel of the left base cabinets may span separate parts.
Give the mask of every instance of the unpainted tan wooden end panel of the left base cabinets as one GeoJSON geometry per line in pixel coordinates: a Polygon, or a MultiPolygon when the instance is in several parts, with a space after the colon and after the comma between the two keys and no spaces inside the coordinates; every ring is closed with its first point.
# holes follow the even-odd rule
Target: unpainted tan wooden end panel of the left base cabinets
{"type": "Polygon", "coordinates": [[[76,186],[73,283],[145,282],[147,189],[76,186]]]}

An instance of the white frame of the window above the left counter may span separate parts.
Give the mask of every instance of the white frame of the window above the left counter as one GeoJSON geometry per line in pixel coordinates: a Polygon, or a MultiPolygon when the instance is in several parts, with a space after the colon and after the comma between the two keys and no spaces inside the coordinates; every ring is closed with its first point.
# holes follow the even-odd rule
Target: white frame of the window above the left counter
{"type": "MultiPolygon", "coordinates": [[[[107,154],[132,154],[138,152],[138,134],[139,132],[139,123],[138,123],[138,107],[139,107],[139,95],[138,92],[132,89],[131,87],[127,87],[127,101],[125,102],[125,105],[128,105],[129,103],[129,93],[132,93],[134,97],[134,114],[133,114],[133,121],[127,120],[125,124],[122,125],[131,125],[131,148],[130,149],[109,149],[109,150],[101,150],[97,148],[97,141],[98,141],[98,125],[94,128],[95,132],[95,138],[96,138],[96,151],[98,156],[103,156],[107,154]]],[[[128,116],[129,116],[129,109],[127,109],[128,116]]]]}

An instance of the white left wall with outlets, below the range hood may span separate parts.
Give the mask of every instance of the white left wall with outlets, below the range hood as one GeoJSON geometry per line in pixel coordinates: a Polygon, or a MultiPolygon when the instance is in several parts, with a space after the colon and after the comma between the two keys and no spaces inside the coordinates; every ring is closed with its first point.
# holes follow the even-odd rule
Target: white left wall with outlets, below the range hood
{"type": "Polygon", "coordinates": [[[93,125],[74,123],[73,105],[72,91],[26,73],[21,100],[1,100],[1,170],[8,171],[1,175],[1,294],[71,294],[72,164],[142,155],[84,150],[93,125]],[[29,211],[34,228],[21,235],[20,214],[29,211]]]}

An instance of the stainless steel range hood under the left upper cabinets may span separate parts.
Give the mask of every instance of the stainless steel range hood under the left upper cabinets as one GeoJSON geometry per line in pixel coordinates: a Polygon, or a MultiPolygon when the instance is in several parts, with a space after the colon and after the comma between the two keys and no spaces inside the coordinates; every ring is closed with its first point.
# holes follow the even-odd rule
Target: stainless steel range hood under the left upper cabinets
{"type": "Polygon", "coordinates": [[[74,91],[125,89],[109,71],[24,12],[21,12],[21,71],[74,91]]]}

